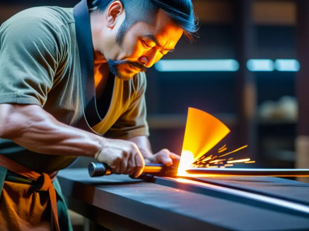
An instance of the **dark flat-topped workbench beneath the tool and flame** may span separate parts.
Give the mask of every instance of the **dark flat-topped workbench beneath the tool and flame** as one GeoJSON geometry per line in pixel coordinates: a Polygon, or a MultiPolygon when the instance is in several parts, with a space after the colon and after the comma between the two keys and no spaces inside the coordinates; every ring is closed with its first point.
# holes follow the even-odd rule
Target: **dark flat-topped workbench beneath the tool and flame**
{"type": "MultiPolygon", "coordinates": [[[[275,177],[152,182],[124,175],[57,176],[69,209],[109,230],[309,230],[309,184],[275,177]]],[[[103,229],[103,228],[102,228],[103,229]]]]}

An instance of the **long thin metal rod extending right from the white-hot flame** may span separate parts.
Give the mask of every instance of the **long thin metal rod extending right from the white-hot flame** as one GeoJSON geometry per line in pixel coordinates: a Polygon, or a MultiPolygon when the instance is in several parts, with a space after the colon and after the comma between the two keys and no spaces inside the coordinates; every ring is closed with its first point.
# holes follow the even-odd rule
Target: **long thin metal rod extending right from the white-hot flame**
{"type": "Polygon", "coordinates": [[[309,176],[309,169],[282,168],[190,168],[188,174],[207,176],[309,176]]]}

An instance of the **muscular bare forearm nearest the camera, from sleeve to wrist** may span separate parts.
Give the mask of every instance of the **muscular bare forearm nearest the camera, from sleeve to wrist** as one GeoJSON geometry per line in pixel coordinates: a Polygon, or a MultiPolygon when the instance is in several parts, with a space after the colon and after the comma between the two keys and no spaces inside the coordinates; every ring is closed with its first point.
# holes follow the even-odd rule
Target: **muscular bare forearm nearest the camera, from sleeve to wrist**
{"type": "Polygon", "coordinates": [[[105,138],[57,121],[37,105],[0,104],[0,138],[33,152],[93,157],[105,138]]]}

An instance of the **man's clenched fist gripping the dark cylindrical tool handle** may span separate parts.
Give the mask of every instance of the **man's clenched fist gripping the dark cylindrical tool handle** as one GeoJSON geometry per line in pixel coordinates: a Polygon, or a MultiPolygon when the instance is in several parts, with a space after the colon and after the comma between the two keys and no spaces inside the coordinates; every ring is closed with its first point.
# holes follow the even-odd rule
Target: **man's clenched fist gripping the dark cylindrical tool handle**
{"type": "Polygon", "coordinates": [[[145,161],[138,146],[127,140],[106,139],[95,159],[107,164],[112,172],[118,174],[138,177],[145,168],[145,161]]]}

